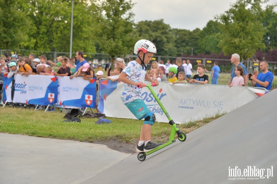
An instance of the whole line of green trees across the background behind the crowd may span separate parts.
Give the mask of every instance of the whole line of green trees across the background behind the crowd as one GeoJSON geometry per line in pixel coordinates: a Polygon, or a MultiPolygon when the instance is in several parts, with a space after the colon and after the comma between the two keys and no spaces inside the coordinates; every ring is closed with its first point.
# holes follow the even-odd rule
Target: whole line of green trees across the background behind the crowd
{"type": "MultiPolygon", "coordinates": [[[[134,22],[131,0],[74,1],[72,50],[123,57],[148,39],[161,56],[238,53],[242,59],[277,61],[276,5],[238,0],[201,30],[171,28],[163,19],[134,22]],[[263,57],[263,58],[262,58],[263,57]]],[[[70,0],[0,0],[0,49],[69,52],[70,0]]]]}

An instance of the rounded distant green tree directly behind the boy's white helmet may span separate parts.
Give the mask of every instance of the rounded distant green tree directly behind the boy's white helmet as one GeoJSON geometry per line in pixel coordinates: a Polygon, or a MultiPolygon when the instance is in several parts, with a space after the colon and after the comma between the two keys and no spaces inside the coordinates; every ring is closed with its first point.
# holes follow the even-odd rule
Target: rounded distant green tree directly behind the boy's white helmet
{"type": "Polygon", "coordinates": [[[141,21],[135,27],[139,39],[152,41],[157,48],[157,55],[176,56],[174,35],[171,27],[163,22],[163,19],[156,21],[141,21]]]}

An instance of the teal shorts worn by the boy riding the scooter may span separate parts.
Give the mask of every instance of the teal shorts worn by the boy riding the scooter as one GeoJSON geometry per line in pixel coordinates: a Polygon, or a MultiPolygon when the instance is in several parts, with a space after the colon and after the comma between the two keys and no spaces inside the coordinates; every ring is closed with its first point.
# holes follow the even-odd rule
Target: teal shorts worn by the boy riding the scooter
{"type": "Polygon", "coordinates": [[[136,116],[137,119],[143,119],[143,116],[149,112],[148,107],[143,100],[138,99],[125,104],[126,107],[136,116]]]}

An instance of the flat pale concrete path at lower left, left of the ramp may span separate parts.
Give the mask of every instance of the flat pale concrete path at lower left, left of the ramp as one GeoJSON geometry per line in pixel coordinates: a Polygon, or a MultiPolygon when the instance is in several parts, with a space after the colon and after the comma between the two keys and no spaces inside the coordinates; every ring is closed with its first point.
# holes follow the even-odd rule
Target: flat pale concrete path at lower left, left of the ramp
{"type": "Polygon", "coordinates": [[[101,144],[0,133],[0,183],[82,183],[129,156],[101,144]]]}

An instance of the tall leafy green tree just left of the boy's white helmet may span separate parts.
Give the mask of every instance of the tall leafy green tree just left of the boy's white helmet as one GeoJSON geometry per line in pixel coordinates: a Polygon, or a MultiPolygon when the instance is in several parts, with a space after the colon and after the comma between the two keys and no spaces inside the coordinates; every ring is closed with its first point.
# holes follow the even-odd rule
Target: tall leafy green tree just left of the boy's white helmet
{"type": "Polygon", "coordinates": [[[130,0],[102,0],[98,6],[97,29],[94,34],[102,53],[111,57],[130,53],[134,47],[134,6],[130,0]]]}

